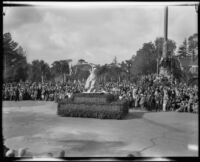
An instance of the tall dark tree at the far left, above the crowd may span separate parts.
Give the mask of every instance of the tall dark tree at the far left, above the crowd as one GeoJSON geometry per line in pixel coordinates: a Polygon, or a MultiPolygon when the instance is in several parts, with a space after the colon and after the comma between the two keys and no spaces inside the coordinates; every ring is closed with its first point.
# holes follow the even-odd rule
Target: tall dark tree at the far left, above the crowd
{"type": "Polygon", "coordinates": [[[25,81],[28,68],[25,51],[12,40],[10,33],[3,35],[4,81],[25,81]]]}

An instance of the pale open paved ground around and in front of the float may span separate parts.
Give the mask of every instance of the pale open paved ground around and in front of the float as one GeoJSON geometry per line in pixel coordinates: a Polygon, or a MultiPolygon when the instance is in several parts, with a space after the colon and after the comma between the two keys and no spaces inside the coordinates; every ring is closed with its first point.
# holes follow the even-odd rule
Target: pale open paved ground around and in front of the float
{"type": "Polygon", "coordinates": [[[33,155],[68,157],[198,156],[198,114],[130,110],[124,120],[59,117],[57,104],[3,102],[3,136],[33,155]]]}

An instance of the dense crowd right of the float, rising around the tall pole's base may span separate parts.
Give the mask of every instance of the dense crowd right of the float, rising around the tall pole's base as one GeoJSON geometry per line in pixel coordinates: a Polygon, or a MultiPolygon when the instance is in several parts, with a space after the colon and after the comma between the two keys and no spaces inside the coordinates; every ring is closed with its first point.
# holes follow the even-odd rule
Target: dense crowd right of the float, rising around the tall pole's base
{"type": "Polygon", "coordinates": [[[137,84],[126,84],[120,99],[130,101],[130,107],[150,111],[198,111],[198,87],[176,83],[156,75],[142,76],[137,84]]]}

